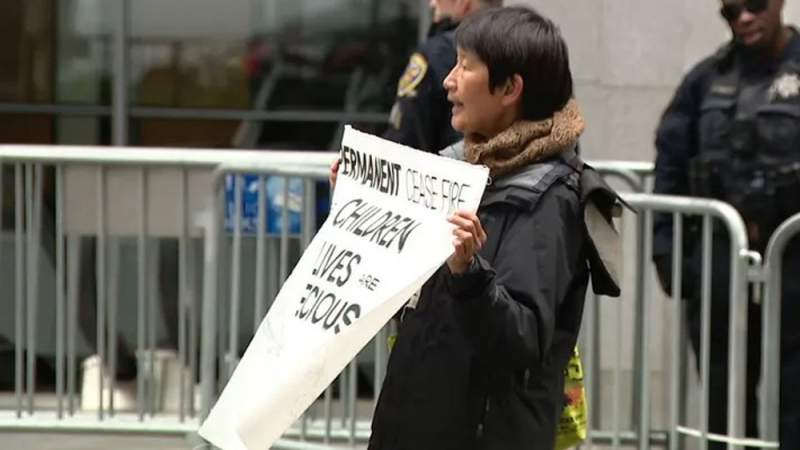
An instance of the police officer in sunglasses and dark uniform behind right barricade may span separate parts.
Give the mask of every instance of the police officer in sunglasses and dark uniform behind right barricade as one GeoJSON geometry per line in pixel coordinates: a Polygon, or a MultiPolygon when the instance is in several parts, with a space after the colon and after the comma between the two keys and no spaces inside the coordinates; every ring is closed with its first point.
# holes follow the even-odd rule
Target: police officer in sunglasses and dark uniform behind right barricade
{"type": "MultiPolygon", "coordinates": [[[[712,197],[733,205],[747,225],[751,248],[763,251],[777,225],[800,211],[800,36],[784,26],[784,0],[722,0],[731,42],[683,79],[656,136],[655,192],[712,197]]],[[[700,349],[700,239],[697,223],[683,242],[689,335],[700,349]]],[[[654,260],[671,289],[672,218],[656,218],[654,260]]],[[[712,254],[709,427],[724,432],[727,418],[729,246],[715,228],[712,254]]],[[[800,245],[784,263],[781,336],[781,448],[800,448],[800,245]],[[794,276],[789,276],[794,274],[794,276]]],[[[760,308],[749,310],[747,434],[757,435],[760,308]]],[[[699,367],[699,365],[698,365],[699,367]]],[[[722,445],[720,445],[720,448],[722,445]]]]}

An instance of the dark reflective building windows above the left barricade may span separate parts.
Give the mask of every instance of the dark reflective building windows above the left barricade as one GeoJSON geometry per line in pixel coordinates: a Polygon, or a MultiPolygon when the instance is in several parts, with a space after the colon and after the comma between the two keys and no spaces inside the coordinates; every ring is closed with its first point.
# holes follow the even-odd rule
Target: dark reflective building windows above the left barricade
{"type": "Polygon", "coordinates": [[[111,105],[115,9],[123,3],[131,144],[325,149],[338,146],[346,123],[385,128],[427,2],[2,0],[0,103],[53,104],[26,112],[55,116],[46,126],[24,116],[20,127],[0,128],[0,141],[43,128],[47,143],[110,141],[110,108],[73,118],[79,110],[60,107],[111,105]],[[205,111],[171,114],[185,118],[178,120],[137,110],[148,107],[205,111]],[[263,114],[210,120],[223,109],[263,114]]]}

